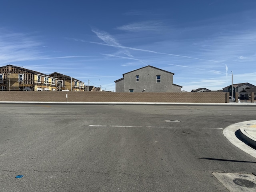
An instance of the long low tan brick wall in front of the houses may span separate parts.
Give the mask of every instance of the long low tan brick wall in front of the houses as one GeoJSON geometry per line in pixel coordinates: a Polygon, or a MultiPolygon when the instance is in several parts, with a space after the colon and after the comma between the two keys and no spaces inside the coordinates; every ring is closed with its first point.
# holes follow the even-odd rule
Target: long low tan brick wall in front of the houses
{"type": "Polygon", "coordinates": [[[120,93],[120,92],[32,92],[0,91],[0,101],[24,102],[229,102],[225,92],[186,93],[120,93]],[[66,94],[68,98],[66,98],[66,94]]]}

